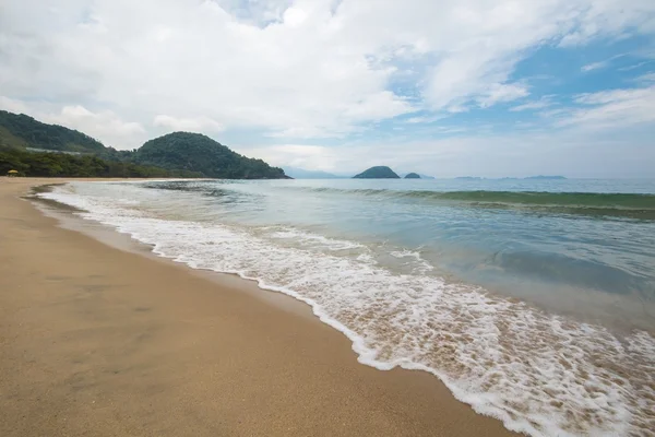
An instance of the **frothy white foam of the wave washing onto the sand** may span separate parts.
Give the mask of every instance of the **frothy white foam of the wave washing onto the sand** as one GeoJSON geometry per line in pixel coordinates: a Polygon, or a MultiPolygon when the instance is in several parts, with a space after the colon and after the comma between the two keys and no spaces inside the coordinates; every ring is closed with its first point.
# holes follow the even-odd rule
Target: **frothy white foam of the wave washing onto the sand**
{"type": "Polygon", "coordinates": [[[163,257],[306,302],[353,341],[360,363],[429,371],[509,429],[654,435],[655,340],[646,332],[618,338],[477,287],[393,273],[367,253],[343,257],[276,245],[235,226],[154,218],[66,187],[41,196],[87,210],[83,217],[154,245],[163,257]]]}

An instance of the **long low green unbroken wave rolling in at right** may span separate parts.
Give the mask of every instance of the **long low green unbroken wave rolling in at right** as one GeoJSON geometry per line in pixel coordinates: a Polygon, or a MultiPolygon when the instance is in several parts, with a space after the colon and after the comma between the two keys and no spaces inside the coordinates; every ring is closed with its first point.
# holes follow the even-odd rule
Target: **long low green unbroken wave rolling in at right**
{"type": "Polygon", "coordinates": [[[428,191],[284,187],[317,193],[338,193],[381,199],[433,201],[490,209],[521,209],[540,213],[583,214],[655,220],[655,194],[546,192],[546,191],[428,191]]]}

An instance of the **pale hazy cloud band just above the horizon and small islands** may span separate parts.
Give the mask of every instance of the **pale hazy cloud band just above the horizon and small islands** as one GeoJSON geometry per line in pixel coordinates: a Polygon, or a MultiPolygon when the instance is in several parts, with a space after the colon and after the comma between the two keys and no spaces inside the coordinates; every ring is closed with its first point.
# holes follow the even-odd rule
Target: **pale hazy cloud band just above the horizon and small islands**
{"type": "Polygon", "coordinates": [[[626,178],[652,176],[655,147],[652,147],[651,139],[647,132],[626,142],[621,134],[562,129],[545,133],[513,131],[425,141],[394,140],[374,146],[361,143],[332,147],[287,144],[237,150],[277,166],[345,175],[373,165],[389,165],[396,172],[417,172],[439,178],[466,175],[525,177],[545,173],[567,177],[626,178]]]}

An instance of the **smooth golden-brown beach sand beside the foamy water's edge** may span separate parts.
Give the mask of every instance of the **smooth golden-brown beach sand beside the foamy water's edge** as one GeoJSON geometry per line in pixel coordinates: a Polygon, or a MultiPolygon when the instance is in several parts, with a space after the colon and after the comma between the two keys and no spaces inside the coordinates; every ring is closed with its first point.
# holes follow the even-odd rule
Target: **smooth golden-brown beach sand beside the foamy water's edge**
{"type": "Polygon", "coordinates": [[[511,434],[431,375],[357,363],[303,304],[19,199],[57,181],[0,178],[0,436],[511,434]]]}

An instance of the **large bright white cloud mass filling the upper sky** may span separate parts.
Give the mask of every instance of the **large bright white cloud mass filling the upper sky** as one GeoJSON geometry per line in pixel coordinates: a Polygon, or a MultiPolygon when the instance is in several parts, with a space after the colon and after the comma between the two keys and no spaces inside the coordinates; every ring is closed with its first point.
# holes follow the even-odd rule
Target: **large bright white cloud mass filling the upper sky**
{"type": "Polygon", "coordinates": [[[71,120],[84,118],[106,142],[115,135],[99,120],[132,129],[130,144],[140,130],[121,122],[151,133],[346,139],[417,111],[491,108],[528,95],[512,74],[539,47],[655,33],[655,3],[646,0],[7,0],[2,8],[4,95],[31,110],[33,102],[58,106],[53,113],[95,108],[98,117],[71,120]],[[406,90],[396,86],[407,78],[406,90]]]}

